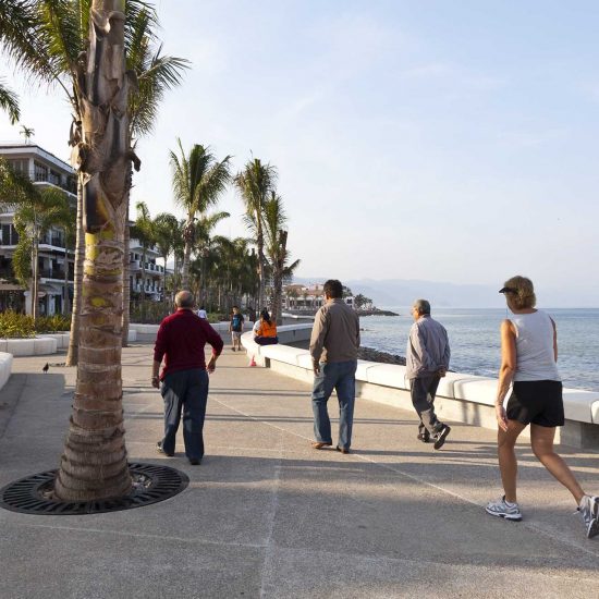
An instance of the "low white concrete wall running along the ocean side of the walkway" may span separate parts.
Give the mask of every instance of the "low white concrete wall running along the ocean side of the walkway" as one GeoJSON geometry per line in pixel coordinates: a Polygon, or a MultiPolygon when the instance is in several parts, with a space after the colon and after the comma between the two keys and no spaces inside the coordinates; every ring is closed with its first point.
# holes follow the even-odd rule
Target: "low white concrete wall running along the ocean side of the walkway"
{"type": "MultiPolygon", "coordinates": [[[[279,339],[286,341],[290,330],[295,330],[295,340],[309,339],[311,325],[289,325],[279,327],[279,339]]],[[[242,335],[242,344],[248,355],[260,366],[283,375],[311,382],[311,358],[309,352],[289,345],[256,344],[252,333],[242,335]]],[[[497,379],[463,372],[448,372],[441,379],[435,401],[435,408],[441,419],[497,428],[494,399],[497,379]]],[[[358,360],[356,370],[356,396],[386,403],[404,409],[414,409],[409,396],[409,381],[405,378],[405,366],[358,360]]],[[[599,450],[599,392],[579,389],[564,389],[564,412],[566,423],[558,429],[558,442],[599,450]]],[[[525,431],[525,436],[528,429],[525,431]]]]}

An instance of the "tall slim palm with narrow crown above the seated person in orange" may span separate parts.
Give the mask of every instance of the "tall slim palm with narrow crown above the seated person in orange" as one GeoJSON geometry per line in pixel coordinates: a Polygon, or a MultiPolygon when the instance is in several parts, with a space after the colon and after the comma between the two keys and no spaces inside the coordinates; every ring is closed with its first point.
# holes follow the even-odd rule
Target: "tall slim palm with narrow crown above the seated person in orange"
{"type": "Polygon", "coordinates": [[[262,164],[258,158],[249,160],[235,176],[235,186],[245,204],[245,220],[256,234],[258,249],[258,306],[265,304],[265,235],[264,206],[277,183],[277,169],[262,164]]]}

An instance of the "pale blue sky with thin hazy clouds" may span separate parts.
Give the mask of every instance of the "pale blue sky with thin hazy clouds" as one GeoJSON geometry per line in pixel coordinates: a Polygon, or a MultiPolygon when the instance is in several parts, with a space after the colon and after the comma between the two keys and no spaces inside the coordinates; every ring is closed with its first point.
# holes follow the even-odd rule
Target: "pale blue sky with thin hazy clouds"
{"type": "MultiPolygon", "coordinates": [[[[276,166],[300,277],[498,284],[519,273],[599,306],[599,3],[160,0],[187,58],[138,143],[133,201],[173,205],[169,150],[276,166]]],[[[68,158],[60,89],[22,94],[68,158]]],[[[0,114],[0,140],[20,138],[0,114]]],[[[233,190],[218,232],[247,233],[233,190]]],[[[500,285],[501,286],[501,285],[500,285]]],[[[542,293],[538,293],[542,296],[542,293]]],[[[551,298],[547,297],[550,302],[551,298]]]]}

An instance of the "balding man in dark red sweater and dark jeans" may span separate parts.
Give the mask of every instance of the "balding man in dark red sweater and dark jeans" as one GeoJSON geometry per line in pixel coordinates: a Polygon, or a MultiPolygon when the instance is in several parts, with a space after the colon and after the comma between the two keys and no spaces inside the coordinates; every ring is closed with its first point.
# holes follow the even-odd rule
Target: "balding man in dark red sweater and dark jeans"
{"type": "Polygon", "coordinates": [[[190,464],[197,465],[204,455],[204,417],[208,401],[208,372],[213,372],[222,352],[222,339],[208,320],[194,311],[194,296],[180,291],[174,304],[176,311],[160,323],[154,346],[151,386],[164,400],[164,438],[158,441],[158,451],[174,455],[174,445],[181,413],[183,412],[183,440],[190,464]],[[204,346],[212,346],[212,356],[206,365],[204,346]],[[158,376],[164,358],[162,374],[158,376]]]}

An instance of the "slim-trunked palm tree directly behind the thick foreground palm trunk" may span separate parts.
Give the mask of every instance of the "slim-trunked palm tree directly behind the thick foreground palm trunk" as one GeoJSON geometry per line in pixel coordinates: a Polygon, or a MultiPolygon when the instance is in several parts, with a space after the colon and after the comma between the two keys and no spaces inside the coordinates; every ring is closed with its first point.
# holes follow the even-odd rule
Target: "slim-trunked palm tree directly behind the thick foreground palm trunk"
{"type": "MultiPolygon", "coordinates": [[[[71,140],[74,166],[82,156],[82,97],[78,93],[85,78],[85,52],[88,42],[91,0],[2,0],[0,2],[0,45],[15,65],[33,80],[39,80],[60,87],[72,107],[73,124],[71,140]]],[[[127,113],[127,144],[131,148],[133,135],[139,137],[151,131],[157,108],[164,91],[181,81],[187,68],[183,59],[161,56],[156,37],[159,26],[156,11],[144,0],[122,0],[119,8],[125,13],[124,44],[127,69],[134,93],[130,95],[127,113]],[[132,113],[140,117],[132,119],[132,113]]],[[[5,88],[0,88],[0,91],[5,88]]],[[[0,94],[1,96],[1,94],[0,94]]],[[[0,105],[1,106],[1,105],[0,105]]],[[[134,155],[132,154],[132,157],[134,155]]],[[[134,163],[138,168],[138,161],[134,163]]],[[[80,173],[82,174],[82,173],[80,173]]],[[[81,311],[81,285],[83,281],[84,233],[83,233],[83,180],[77,186],[78,215],[75,256],[74,309],[71,322],[71,343],[68,364],[77,363],[77,339],[81,311]]],[[[130,182],[123,181],[123,190],[130,182]]],[[[129,266],[129,259],[127,259],[129,266]]],[[[129,279],[129,273],[126,273],[129,279]]],[[[129,288],[126,288],[129,292],[129,288]]],[[[129,297],[129,296],[127,296],[129,297]]],[[[129,306],[127,306],[129,307],[129,306]]],[[[129,315],[129,311],[126,313],[129,315]]]]}

